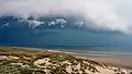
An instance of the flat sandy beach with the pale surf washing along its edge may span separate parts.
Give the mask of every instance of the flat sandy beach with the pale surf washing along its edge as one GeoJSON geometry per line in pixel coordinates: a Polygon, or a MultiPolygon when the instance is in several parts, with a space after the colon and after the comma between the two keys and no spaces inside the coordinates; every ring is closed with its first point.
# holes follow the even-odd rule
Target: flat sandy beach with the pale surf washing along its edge
{"type": "MultiPolygon", "coordinates": [[[[18,47],[14,47],[18,48],[18,47]]],[[[19,47],[24,48],[24,47],[19,47]]],[[[125,67],[132,70],[132,55],[131,54],[116,54],[110,52],[100,52],[100,51],[86,51],[85,53],[79,51],[66,51],[63,49],[40,49],[40,48],[24,48],[30,50],[46,50],[50,52],[61,52],[68,53],[81,59],[89,59],[108,65],[113,65],[118,67],[125,67]],[[88,52],[88,53],[87,53],[88,52]]]]}

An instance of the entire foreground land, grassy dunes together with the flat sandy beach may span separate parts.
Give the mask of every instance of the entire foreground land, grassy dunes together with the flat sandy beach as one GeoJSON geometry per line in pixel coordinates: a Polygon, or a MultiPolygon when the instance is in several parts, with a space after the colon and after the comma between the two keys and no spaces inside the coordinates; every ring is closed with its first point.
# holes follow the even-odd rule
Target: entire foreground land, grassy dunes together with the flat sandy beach
{"type": "Polygon", "coordinates": [[[130,55],[87,54],[35,49],[0,47],[0,73],[31,74],[131,74],[130,55]],[[24,73],[23,73],[24,72],[24,73]]]}

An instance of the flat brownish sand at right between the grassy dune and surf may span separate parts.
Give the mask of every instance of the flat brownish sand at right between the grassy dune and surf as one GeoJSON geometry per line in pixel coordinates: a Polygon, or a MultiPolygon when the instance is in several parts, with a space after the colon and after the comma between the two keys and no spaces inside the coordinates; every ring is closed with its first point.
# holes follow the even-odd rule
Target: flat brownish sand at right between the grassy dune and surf
{"type": "MultiPolygon", "coordinates": [[[[73,53],[72,53],[73,54],[73,53]]],[[[79,58],[101,62],[108,65],[118,67],[132,69],[132,55],[90,55],[90,54],[74,54],[79,58]]]]}

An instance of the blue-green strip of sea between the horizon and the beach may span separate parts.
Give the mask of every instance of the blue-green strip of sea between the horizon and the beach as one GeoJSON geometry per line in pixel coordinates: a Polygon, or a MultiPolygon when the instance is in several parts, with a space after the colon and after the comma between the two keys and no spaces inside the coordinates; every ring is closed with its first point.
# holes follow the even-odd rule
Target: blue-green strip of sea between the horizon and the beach
{"type": "MultiPolygon", "coordinates": [[[[45,48],[43,48],[45,49],[45,48]]],[[[62,46],[46,47],[51,50],[59,50],[67,52],[78,52],[84,54],[124,54],[132,55],[132,47],[89,47],[89,46],[62,46]]]]}

